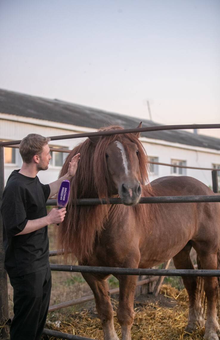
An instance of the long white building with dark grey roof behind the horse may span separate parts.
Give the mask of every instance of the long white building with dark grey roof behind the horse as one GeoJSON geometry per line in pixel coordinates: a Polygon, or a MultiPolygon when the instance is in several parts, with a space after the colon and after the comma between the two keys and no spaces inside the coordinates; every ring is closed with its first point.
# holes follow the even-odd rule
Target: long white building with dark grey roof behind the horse
{"type": "MultiPolygon", "coordinates": [[[[49,100],[16,92],[0,90],[0,141],[20,140],[29,133],[43,136],[61,136],[74,133],[94,132],[106,124],[119,124],[123,128],[136,128],[140,119],[108,113],[94,108],[58,100],[49,100]]],[[[162,125],[143,120],[143,126],[162,125]]],[[[72,149],[82,139],[51,141],[53,148],[72,149]]],[[[220,169],[220,139],[193,134],[183,130],[144,132],[142,141],[152,162],[189,167],[220,169]]],[[[47,171],[38,176],[42,183],[57,179],[66,154],[52,152],[47,171]]],[[[83,157],[83,155],[82,155],[83,157]]],[[[5,182],[14,169],[21,166],[18,149],[4,148],[5,182]]],[[[212,186],[211,171],[151,165],[151,177],[188,175],[212,186]]],[[[220,171],[218,171],[220,180],[220,171]]]]}

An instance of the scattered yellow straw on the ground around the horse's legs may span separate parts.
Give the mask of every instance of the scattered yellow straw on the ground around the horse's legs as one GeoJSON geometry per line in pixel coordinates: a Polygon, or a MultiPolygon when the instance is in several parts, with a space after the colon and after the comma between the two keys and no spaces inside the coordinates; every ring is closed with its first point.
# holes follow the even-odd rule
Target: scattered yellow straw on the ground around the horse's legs
{"type": "MultiPolygon", "coordinates": [[[[111,295],[114,327],[121,339],[121,329],[116,317],[118,299],[118,294],[111,295]]],[[[185,289],[179,291],[170,285],[163,285],[157,297],[152,294],[137,296],[134,311],[132,340],[202,340],[204,335],[204,328],[198,328],[193,334],[184,332],[188,314],[188,296],[185,289]]],[[[46,328],[90,339],[103,339],[103,331],[94,301],[81,305],[78,310],[68,307],[51,312],[46,328]]],[[[55,340],[57,338],[43,336],[43,339],[55,340]]]]}

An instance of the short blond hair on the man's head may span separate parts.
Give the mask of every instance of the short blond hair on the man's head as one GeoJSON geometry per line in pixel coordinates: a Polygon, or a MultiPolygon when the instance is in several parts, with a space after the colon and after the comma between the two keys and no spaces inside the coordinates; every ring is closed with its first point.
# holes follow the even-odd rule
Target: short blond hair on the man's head
{"type": "Polygon", "coordinates": [[[42,148],[50,141],[49,137],[43,137],[35,133],[30,133],[20,142],[19,152],[25,163],[31,163],[34,155],[41,155],[42,148]]]}

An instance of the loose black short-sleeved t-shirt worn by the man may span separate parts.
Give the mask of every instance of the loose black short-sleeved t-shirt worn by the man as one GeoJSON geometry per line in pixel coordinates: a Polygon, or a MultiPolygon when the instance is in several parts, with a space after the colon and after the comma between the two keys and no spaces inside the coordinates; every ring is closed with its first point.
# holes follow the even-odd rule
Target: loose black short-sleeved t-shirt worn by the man
{"type": "Polygon", "coordinates": [[[49,263],[47,226],[32,233],[17,235],[28,220],[47,215],[46,201],[49,185],[38,177],[27,177],[14,170],[5,186],[1,212],[3,217],[3,244],[5,269],[10,277],[42,270],[49,263]]]}

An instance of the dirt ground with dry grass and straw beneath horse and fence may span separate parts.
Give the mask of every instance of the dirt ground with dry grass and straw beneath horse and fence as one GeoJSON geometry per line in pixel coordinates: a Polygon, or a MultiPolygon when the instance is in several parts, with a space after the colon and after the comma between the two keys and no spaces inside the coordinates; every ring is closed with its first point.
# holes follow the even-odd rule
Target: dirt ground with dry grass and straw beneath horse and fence
{"type": "MultiPolygon", "coordinates": [[[[53,229],[51,226],[49,227],[48,235],[49,235],[49,240],[50,240],[50,250],[54,250],[56,248],[54,248],[55,246],[53,244],[53,229]]],[[[192,256],[194,258],[193,261],[195,261],[195,254],[193,253],[192,256]]],[[[63,261],[62,256],[53,256],[53,257],[50,257],[50,263],[64,264],[64,261],[63,261]]],[[[71,263],[67,263],[67,264],[71,264],[71,263]]],[[[169,268],[170,269],[174,268],[172,262],[170,263],[169,268]]],[[[153,339],[154,340],[172,340],[172,339],[177,339],[177,334],[178,334],[178,339],[182,339],[181,334],[183,334],[184,327],[187,323],[187,308],[188,308],[187,307],[188,304],[185,303],[185,300],[187,299],[186,297],[187,295],[185,292],[184,294],[186,296],[184,297],[184,304],[181,300],[182,309],[181,311],[179,311],[178,309],[180,308],[180,302],[178,301],[179,295],[183,295],[182,293],[183,291],[181,290],[184,288],[183,282],[180,277],[166,277],[164,279],[164,283],[168,284],[168,286],[164,286],[168,288],[163,288],[157,297],[155,297],[153,294],[142,294],[142,295],[135,297],[134,308],[137,314],[136,314],[136,319],[134,321],[134,325],[132,326],[132,329],[133,329],[132,340],[153,340],[153,339]],[[172,288],[172,287],[176,287],[178,289],[172,288]],[[175,290],[175,293],[172,291],[172,289],[175,290]],[[172,291],[172,292],[167,293],[166,291],[169,291],[169,292],[172,291]],[[169,296],[169,294],[171,294],[172,296],[169,296]],[[149,308],[150,308],[150,311],[149,311],[149,308]],[[162,321],[161,321],[161,313],[163,315],[162,321]],[[166,321],[167,319],[174,320],[177,314],[179,315],[183,314],[183,325],[181,324],[181,326],[179,326],[180,323],[177,322],[178,325],[176,326],[176,329],[174,327],[175,331],[171,335],[161,336],[161,334],[164,332],[157,333],[160,327],[162,327],[161,329],[163,330],[165,329],[164,327],[167,324],[167,321],[166,321]],[[156,323],[155,323],[156,321],[154,321],[153,326],[149,324],[148,320],[152,319],[152,315],[154,315],[155,319],[160,321],[160,324],[158,324],[158,326],[156,326],[156,323]],[[148,318],[147,321],[145,320],[146,317],[148,318]],[[148,328],[145,328],[145,326],[143,325],[148,325],[146,326],[148,328]],[[142,333],[140,333],[140,327],[141,327],[142,333]],[[155,327],[157,328],[156,333],[154,331],[155,327]],[[144,336],[143,334],[148,334],[148,335],[144,336]]],[[[112,275],[108,279],[108,284],[109,284],[110,289],[118,287],[118,281],[112,275]]],[[[13,289],[9,281],[8,281],[8,294],[9,294],[9,314],[10,314],[10,317],[12,317],[13,316],[13,289]]],[[[59,304],[61,302],[78,299],[80,297],[87,296],[87,295],[92,295],[92,291],[80,273],[52,271],[52,290],[51,290],[50,306],[59,304]]],[[[113,310],[115,314],[115,318],[114,318],[115,327],[116,327],[115,329],[118,329],[117,332],[120,334],[120,329],[119,329],[120,327],[119,327],[119,324],[117,324],[117,319],[116,319],[116,309],[118,305],[118,298],[119,298],[119,294],[111,295],[111,302],[112,302],[113,310]]],[[[48,313],[46,328],[51,328],[51,329],[65,332],[65,333],[76,334],[79,336],[84,336],[84,337],[93,338],[93,339],[103,339],[101,323],[97,316],[94,300],[48,313]],[[90,327],[91,324],[92,326],[90,327]],[[83,325],[85,329],[83,329],[83,325]],[[89,331],[88,331],[88,328],[89,328],[89,331]]],[[[43,339],[44,340],[55,340],[57,338],[43,336],[42,340],[43,339]]],[[[200,334],[198,334],[196,335],[196,337],[187,338],[187,340],[190,340],[190,339],[193,339],[193,340],[202,339],[202,337],[200,336],[200,334]]]]}

